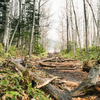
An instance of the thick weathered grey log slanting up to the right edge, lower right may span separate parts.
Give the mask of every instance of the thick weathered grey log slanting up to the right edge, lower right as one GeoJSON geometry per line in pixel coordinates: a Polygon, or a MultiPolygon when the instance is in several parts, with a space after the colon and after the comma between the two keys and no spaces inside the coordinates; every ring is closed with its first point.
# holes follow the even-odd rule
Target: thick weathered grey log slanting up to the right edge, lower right
{"type": "Polygon", "coordinates": [[[88,90],[93,90],[99,74],[100,64],[94,64],[83,82],[76,89],[71,91],[72,96],[84,95],[88,92],[88,90]]]}

